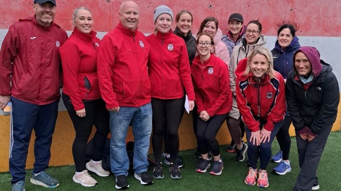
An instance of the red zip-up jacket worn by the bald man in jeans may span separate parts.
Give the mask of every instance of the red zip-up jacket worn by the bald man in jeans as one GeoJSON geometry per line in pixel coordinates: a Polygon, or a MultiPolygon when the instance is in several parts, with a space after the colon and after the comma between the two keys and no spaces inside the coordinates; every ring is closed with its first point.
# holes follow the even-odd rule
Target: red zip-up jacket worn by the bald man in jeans
{"type": "Polygon", "coordinates": [[[107,109],[140,107],[151,102],[147,68],[150,50],[141,32],[131,31],[121,23],[101,40],[97,74],[107,109]]]}

